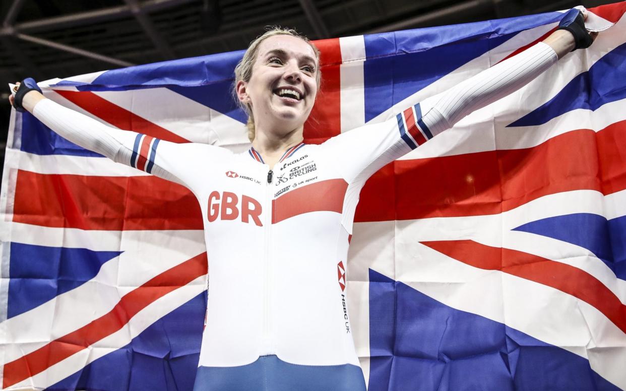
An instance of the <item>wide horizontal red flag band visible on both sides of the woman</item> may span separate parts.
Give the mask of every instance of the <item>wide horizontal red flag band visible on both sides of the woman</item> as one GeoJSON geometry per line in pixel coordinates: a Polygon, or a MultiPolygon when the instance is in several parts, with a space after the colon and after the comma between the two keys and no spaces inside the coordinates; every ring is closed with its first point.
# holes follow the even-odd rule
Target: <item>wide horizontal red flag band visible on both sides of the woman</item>
{"type": "MultiPolygon", "coordinates": [[[[571,131],[534,148],[399,160],[367,181],[355,221],[491,215],[560,191],[615,193],[626,189],[623,140],[626,121],[598,133],[571,131]]],[[[83,230],[203,227],[192,192],[160,178],[29,171],[18,172],[13,220],[83,230]]]]}

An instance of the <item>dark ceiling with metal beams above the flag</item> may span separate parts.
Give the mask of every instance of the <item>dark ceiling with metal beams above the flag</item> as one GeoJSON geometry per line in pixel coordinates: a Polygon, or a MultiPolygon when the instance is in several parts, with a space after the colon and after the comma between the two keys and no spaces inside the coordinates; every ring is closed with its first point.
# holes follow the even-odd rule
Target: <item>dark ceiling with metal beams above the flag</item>
{"type": "Polygon", "coordinates": [[[265,26],[310,39],[468,23],[587,8],[562,0],[1,0],[0,161],[7,83],[38,81],[245,49],[265,26]]]}

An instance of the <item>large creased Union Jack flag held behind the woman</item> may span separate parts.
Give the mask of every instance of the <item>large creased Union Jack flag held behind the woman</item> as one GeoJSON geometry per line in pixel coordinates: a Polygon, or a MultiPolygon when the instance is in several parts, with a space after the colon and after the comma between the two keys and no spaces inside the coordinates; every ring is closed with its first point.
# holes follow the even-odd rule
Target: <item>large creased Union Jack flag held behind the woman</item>
{"type": "MultiPolygon", "coordinates": [[[[590,11],[606,30],[590,49],[367,182],[338,274],[370,391],[626,389],[626,2],[590,11]]],[[[391,118],[561,16],[316,41],[305,141],[391,118]]],[[[44,93],[120,129],[245,151],[230,96],[241,56],[44,93]]],[[[0,211],[3,389],[192,388],[207,254],[190,191],[13,113],[0,211]]]]}

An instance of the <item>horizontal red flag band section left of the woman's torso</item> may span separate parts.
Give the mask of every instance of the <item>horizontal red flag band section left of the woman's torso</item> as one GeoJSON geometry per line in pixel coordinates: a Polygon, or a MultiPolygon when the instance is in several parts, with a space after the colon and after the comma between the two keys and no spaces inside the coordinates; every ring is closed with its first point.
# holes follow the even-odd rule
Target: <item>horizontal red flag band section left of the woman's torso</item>
{"type": "Polygon", "coordinates": [[[81,230],[202,230],[191,191],[156,176],[18,171],[13,221],[81,230]]]}

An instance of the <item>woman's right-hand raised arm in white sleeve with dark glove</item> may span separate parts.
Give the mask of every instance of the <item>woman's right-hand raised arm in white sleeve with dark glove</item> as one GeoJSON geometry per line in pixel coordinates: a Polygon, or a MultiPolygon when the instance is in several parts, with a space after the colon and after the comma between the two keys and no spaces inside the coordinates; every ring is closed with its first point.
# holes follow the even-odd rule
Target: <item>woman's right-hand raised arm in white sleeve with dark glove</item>
{"type": "Polygon", "coordinates": [[[559,29],[544,41],[404,109],[394,118],[342,133],[328,140],[325,148],[336,156],[348,183],[364,183],[379,168],[452,128],[464,116],[530,83],[572,49],[587,48],[595,34],[585,30],[584,19],[578,9],[572,9],[563,16],[559,29]],[[342,153],[347,146],[357,158],[342,153]]]}

